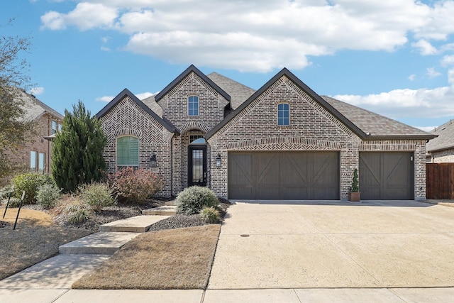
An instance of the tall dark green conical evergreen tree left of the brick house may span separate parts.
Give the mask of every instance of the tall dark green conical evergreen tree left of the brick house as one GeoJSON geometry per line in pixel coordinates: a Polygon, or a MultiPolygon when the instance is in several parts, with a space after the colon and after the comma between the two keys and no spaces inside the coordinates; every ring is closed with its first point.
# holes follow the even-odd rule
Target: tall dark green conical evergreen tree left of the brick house
{"type": "Polygon", "coordinates": [[[70,192],[79,184],[101,180],[106,143],[101,121],[91,116],[82,101],[73,104],[72,113],[65,110],[62,131],[52,146],[52,175],[57,186],[70,192]]]}

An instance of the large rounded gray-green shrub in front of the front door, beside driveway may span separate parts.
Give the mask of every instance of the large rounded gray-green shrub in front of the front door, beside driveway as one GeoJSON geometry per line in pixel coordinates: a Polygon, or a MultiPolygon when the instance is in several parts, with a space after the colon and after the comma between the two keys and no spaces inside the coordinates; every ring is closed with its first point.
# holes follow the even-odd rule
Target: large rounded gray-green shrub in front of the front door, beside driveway
{"type": "Polygon", "coordinates": [[[179,214],[199,214],[205,206],[218,206],[219,200],[211,189],[193,186],[180,192],[175,199],[175,204],[179,214]]]}

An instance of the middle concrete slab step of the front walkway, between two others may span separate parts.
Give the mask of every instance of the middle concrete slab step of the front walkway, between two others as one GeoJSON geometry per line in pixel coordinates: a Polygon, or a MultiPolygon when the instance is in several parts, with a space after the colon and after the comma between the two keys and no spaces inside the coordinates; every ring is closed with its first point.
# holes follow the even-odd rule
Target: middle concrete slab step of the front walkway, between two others
{"type": "MultiPolygon", "coordinates": [[[[170,216],[170,215],[169,215],[170,216]]],[[[133,216],[99,226],[99,231],[120,231],[128,233],[145,233],[152,224],[167,219],[169,216],[133,216]]]]}

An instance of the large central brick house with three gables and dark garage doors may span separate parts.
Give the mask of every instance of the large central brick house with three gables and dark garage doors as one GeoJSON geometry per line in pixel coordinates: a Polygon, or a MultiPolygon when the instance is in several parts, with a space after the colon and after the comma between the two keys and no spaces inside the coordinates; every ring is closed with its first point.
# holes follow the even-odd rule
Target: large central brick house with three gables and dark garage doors
{"type": "Polygon", "coordinates": [[[434,136],[330,97],[287,69],[258,91],[194,65],[140,101],[124,89],[96,114],[109,172],[133,166],[228,199],[425,199],[434,136]]]}

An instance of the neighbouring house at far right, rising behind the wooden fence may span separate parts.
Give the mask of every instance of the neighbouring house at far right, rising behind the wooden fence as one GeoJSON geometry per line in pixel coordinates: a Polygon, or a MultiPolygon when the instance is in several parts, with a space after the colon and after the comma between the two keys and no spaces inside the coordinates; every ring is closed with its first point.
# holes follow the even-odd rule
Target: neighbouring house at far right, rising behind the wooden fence
{"type": "Polygon", "coordinates": [[[431,133],[438,137],[426,144],[427,162],[454,162],[454,121],[438,126],[431,133]]]}

